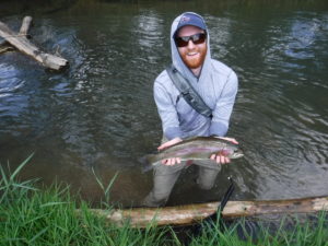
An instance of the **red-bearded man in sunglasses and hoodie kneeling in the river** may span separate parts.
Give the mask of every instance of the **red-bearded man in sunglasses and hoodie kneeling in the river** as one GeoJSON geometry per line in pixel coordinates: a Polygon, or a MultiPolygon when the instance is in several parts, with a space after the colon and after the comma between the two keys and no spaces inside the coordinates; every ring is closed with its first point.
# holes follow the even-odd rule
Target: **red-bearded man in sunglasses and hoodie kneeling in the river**
{"type": "MultiPolygon", "coordinates": [[[[162,120],[163,140],[159,150],[196,136],[223,137],[237,93],[235,72],[220,61],[211,59],[210,36],[203,19],[192,12],[176,17],[171,28],[173,66],[189,81],[202,101],[212,109],[212,117],[197,113],[180,95],[169,74],[164,70],[154,82],[154,99],[162,120]]],[[[237,143],[234,139],[227,140],[237,143]]],[[[202,189],[213,187],[221,169],[220,164],[230,160],[220,153],[199,165],[198,185],[202,189]]],[[[144,206],[165,204],[183,168],[188,166],[180,159],[163,160],[154,169],[153,190],[144,199],[144,206]]]]}

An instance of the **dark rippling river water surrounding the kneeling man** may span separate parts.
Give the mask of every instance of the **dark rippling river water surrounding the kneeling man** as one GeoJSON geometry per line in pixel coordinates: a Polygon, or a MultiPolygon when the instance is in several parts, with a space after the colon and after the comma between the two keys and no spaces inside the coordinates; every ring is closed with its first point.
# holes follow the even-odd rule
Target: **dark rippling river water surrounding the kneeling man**
{"type": "MultiPolygon", "coordinates": [[[[19,30],[34,17],[33,42],[70,61],[45,71],[19,54],[0,55],[0,161],[23,178],[55,179],[98,201],[118,172],[114,202],[138,202],[152,174],[136,160],[156,149],[161,124],[152,97],[155,77],[171,61],[173,19],[201,13],[212,56],[239,77],[229,136],[245,159],[222,168],[215,187],[197,188],[191,166],[168,204],[218,200],[233,175],[233,199],[328,195],[328,7],[325,1],[71,1],[69,8],[7,2],[0,19],[19,30]]],[[[2,3],[1,3],[2,4],[2,3]]]]}

